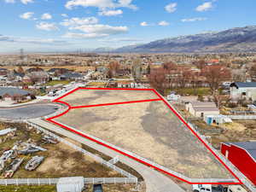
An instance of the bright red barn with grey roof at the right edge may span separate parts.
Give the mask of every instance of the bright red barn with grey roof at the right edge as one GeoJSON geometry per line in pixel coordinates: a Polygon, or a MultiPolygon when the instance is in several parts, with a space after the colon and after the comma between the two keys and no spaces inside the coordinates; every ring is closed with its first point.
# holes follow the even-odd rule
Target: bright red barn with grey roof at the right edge
{"type": "Polygon", "coordinates": [[[256,142],[221,143],[221,153],[256,185],[256,142]]]}

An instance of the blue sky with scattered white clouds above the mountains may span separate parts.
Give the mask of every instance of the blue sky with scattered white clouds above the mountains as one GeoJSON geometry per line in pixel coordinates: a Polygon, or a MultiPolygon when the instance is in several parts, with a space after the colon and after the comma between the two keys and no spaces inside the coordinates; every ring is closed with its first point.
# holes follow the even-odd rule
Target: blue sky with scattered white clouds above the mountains
{"type": "Polygon", "coordinates": [[[255,0],[0,0],[0,52],[118,48],[256,25],[255,0]]]}

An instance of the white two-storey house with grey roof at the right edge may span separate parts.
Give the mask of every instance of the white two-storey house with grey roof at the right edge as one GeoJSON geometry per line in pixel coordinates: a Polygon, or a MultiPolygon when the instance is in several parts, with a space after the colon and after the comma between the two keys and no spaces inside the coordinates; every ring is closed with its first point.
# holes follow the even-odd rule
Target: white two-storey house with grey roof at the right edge
{"type": "Polygon", "coordinates": [[[256,82],[235,82],[230,84],[232,100],[246,99],[256,101],[256,82]]]}

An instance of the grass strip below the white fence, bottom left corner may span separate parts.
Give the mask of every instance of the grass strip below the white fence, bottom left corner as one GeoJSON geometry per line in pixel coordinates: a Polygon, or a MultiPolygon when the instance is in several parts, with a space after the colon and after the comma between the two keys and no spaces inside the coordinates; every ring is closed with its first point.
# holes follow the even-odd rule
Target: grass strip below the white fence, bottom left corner
{"type": "Polygon", "coordinates": [[[1,185],[0,192],[56,192],[56,187],[55,185],[1,185]]]}

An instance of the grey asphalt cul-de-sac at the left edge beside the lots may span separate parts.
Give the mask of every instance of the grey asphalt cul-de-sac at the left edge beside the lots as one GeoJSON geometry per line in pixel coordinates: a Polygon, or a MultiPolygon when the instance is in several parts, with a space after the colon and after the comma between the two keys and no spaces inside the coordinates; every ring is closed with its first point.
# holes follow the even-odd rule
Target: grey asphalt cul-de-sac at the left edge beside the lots
{"type": "Polygon", "coordinates": [[[19,108],[0,108],[0,118],[3,119],[34,119],[55,113],[55,105],[38,104],[19,108]]]}

